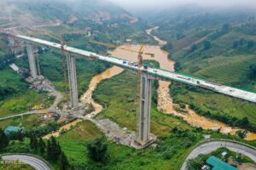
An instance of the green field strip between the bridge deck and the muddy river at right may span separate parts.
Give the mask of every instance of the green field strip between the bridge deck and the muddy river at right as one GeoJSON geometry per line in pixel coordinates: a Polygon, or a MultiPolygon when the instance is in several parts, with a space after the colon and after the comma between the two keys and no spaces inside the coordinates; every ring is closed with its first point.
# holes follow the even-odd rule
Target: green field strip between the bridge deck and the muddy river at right
{"type": "Polygon", "coordinates": [[[175,103],[187,103],[202,116],[224,122],[231,127],[242,127],[253,132],[256,130],[256,105],[249,102],[177,83],[172,83],[170,94],[175,103]]]}

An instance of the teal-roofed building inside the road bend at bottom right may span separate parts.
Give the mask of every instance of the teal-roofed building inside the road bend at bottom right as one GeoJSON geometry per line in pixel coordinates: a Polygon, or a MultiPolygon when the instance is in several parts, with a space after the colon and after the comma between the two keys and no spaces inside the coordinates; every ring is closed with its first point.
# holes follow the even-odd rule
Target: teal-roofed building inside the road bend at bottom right
{"type": "Polygon", "coordinates": [[[218,157],[210,156],[207,159],[207,164],[212,167],[212,170],[238,170],[236,167],[231,166],[230,164],[221,161],[218,157]]]}

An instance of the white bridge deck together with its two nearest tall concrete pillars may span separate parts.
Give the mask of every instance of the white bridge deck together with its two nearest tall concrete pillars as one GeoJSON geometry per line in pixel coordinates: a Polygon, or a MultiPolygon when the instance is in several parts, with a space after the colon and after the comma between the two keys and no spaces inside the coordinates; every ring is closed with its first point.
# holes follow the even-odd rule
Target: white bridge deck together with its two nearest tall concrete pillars
{"type": "MultiPolygon", "coordinates": [[[[49,42],[41,40],[34,37],[26,37],[22,35],[12,35],[18,37],[23,41],[37,43],[40,45],[49,46],[51,48],[61,49],[61,44],[55,42],[49,42]]],[[[29,43],[28,43],[29,45],[29,43]]],[[[191,86],[205,88],[219,94],[229,95],[234,98],[247,100],[253,103],[256,103],[256,94],[241,90],[238,88],[231,88],[224,86],[217,82],[208,82],[206,80],[190,77],[187,75],[179,74],[173,71],[165,71],[161,69],[148,68],[144,70],[139,68],[136,65],[128,65],[128,62],[125,62],[124,59],[115,58],[112,56],[103,56],[100,54],[92,53],[78,48],[73,48],[65,45],[64,51],[67,53],[67,64],[69,68],[69,82],[71,87],[71,96],[72,96],[72,105],[73,107],[77,106],[78,101],[78,91],[77,91],[77,82],[76,82],[76,72],[75,72],[75,57],[72,57],[73,54],[80,56],[85,56],[88,58],[102,60],[113,65],[124,68],[125,70],[131,71],[133,73],[142,74],[141,77],[141,93],[140,93],[140,114],[138,115],[137,120],[137,141],[140,144],[147,144],[150,140],[150,106],[151,106],[151,80],[163,80],[166,82],[181,82],[189,84],[191,86]]],[[[30,64],[31,65],[31,64],[30,64]]],[[[33,65],[33,64],[32,64],[33,65]]],[[[32,69],[31,69],[32,70],[32,69]]]]}

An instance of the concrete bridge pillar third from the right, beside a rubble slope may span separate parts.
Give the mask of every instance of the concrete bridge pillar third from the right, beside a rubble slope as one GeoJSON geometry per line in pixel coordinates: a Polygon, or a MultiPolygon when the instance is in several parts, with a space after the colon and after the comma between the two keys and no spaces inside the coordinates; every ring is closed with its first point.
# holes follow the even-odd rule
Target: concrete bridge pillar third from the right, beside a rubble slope
{"type": "Polygon", "coordinates": [[[29,67],[30,67],[30,72],[32,78],[37,78],[37,66],[35,62],[35,56],[34,56],[34,51],[32,48],[32,42],[26,42],[26,52],[28,56],[28,62],[29,62],[29,67]]]}

